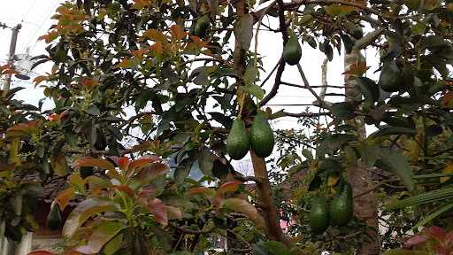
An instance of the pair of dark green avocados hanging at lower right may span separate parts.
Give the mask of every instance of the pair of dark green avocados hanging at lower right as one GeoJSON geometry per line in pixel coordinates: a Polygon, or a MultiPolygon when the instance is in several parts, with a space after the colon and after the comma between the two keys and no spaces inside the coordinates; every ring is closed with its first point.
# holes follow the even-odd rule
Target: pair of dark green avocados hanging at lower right
{"type": "Polygon", "coordinates": [[[311,201],[310,227],[315,234],[322,234],[332,222],[334,226],[346,226],[354,213],[354,200],[352,187],[345,183],[342,191],[337,193],[330,206],[327,205],[326,197],[314,197],[311,201]]]}

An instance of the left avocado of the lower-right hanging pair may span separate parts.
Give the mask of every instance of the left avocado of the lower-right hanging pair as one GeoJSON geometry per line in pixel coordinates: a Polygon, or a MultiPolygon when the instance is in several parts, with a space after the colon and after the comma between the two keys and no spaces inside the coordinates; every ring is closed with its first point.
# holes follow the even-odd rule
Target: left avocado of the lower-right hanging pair
{"type": "Polygon", "coordinates": [[[329,227],[329,212],[325,197],[314,197],[311,200],[310,227],[315,234],[322,234],[329,227]]]}

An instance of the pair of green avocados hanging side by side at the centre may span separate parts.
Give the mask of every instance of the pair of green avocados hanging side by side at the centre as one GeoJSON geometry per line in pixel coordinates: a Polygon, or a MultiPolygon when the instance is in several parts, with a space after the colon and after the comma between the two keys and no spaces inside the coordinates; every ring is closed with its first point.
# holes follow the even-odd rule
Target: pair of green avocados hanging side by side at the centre
{"type": "Polygon", "coordinates": [[[273,129],[269,125],[264,112],[258,112],[247,135],[244,121],[241,117],[234,120],[230,133],[226,138],[226,153],[231,158],[239,160],[249,152],[250,147],[261,158],[268,157],[273,152],[273,129]]]}

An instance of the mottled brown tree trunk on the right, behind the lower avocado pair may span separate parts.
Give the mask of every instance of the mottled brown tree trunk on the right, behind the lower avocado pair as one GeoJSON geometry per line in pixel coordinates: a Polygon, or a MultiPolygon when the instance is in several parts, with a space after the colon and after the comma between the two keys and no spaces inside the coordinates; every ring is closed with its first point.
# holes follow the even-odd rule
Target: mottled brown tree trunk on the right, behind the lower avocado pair
{"type": "MultiPolygon", "coordinates": [[[[351,65],[366,61],[359,50],[353,50],[350,54],[344,57],[344,70],[348,71],[351,65]]],[[[345,74],[345,94],[346,101],[360,101],[362,95],[357,88],[351,75],[345,74]]],[[[357,128],[357,136],[359,140],[366,138],[365,121],[363,117],[356,117],[350,120],[352,125],[357,128]]],[[[353,194],[361,194],[372,187],[372,176],[368,166],[361,160],[357,160],[354,166],[349,167],[349,182],[353,188],[353,194]]],[[[379,255],[380,254],[380,235],[378,221],[378,203],[374,192],[369,192],[364,196],[354,198],[354,214],[358,219],[364,220],[369,229],[367,234],[372,238],[372,241],[362,243],[357,249],[359,255],[379,255]]]]}

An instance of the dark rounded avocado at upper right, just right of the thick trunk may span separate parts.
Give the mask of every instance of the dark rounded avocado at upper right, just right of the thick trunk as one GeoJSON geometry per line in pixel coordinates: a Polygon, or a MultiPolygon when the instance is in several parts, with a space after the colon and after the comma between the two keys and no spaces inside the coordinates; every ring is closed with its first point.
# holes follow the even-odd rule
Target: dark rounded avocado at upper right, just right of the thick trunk
{"type": "Polygon", "coordinates": [[[385,61],[380,70],[379,86],[387,92],[396,92],[403,87],[403,73],[395,61],[385,61]]]}

